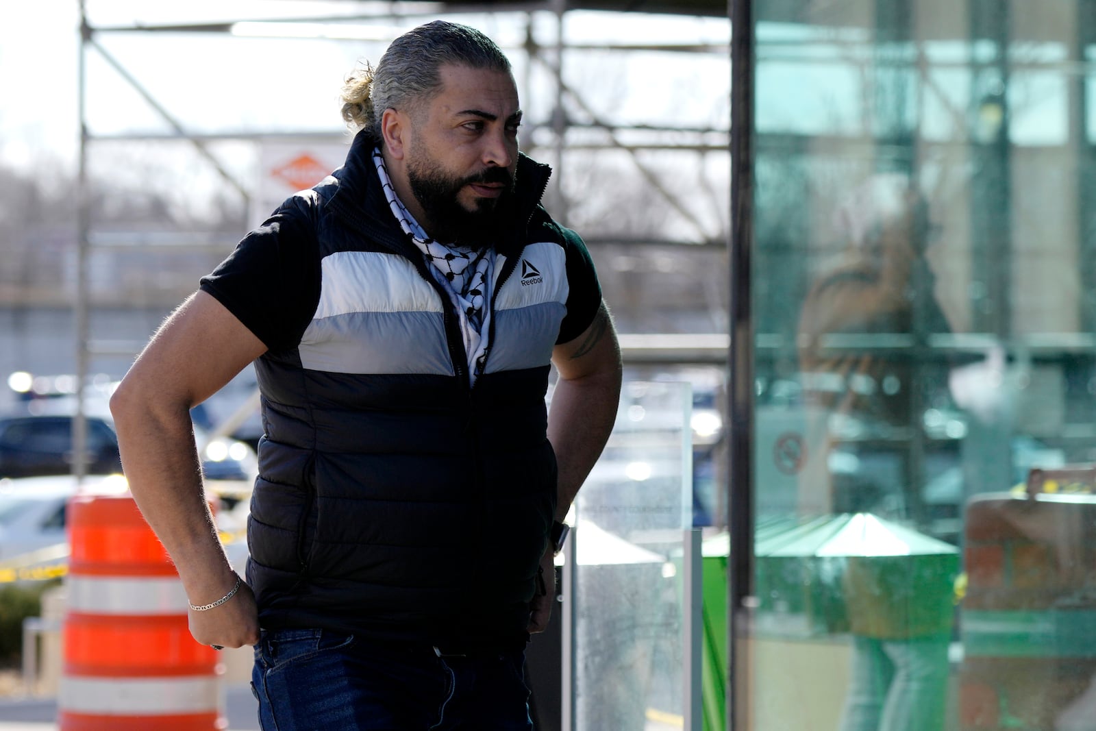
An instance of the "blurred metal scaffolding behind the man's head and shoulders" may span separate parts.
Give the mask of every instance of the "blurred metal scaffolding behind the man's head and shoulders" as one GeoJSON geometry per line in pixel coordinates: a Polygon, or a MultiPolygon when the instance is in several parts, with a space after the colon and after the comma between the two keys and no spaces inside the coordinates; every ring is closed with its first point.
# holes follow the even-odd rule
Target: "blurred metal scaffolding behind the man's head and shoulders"
{"type": "MultiPolygon", "coordinates": [[[[135,258],[138,252],[164,255],[169,252],[201,253],[216,256],[213,263],[219,261],[235,244],[236,237],[216,236],[212,233],[179,233],[168,231],[132,232],[98,230],[91,215],[91,196],[93,183],[90,175],[90,152],[100,144],[140,141],[155,145],[158,142],[182,142],[190,147],[194,155],[215,172],[224,187],[233,192],[247,207],[254,191],[250,181],[242,179],[238,171],[222,160],[216,149],[225,141],[249,141],[259,144],[263,140],[300,141],[323,138],[340,139],[339,133],[310,130],[263,132],[241,128],[236,130],[209,133],[191,128],[187,123],[170,111],[158,93],[155,84],[141,81],[132,65],[127,65],[110,44],[110,39],[119,36],[157,36],[160,37],[199,37],[199,36],[246,36],[246,37],[309,37],[326,41],[390,41],[398,34],[391,26],[408,22],[425,22],[436,16],[455,14],[494,13],[505,14],[514,25],[524,24],[523,36],[517,43],[504,45],[504,50],[512,58],[524,61],[524,84],[532,88],[537,79],[549,79],[547,90],[551,105],[549,113],[527,114],[523,125],[523,150],[538,157],[547,157],[553,168],[552,186],[548,192],[547,205],[553,217],[567,224],[575,209],[575,196],[569,191],[574,186],[569,178],[576,174],[575,160],[613,151],[627,161],[630,180],[641,181],[651,199],[657,201],[653,207],[673,216],[680,225],[681,237],[664,238],[660,236],[626,235],[585,236],[593,251],[605,251],[614,261],[623,262],[620,267],[629,270],[635,262],[643,256],[657,259],[659,264],[653,267],[665,267],[665,260],[673,256],[682,244],[692,244],[688,251],[698,256],[715,258],[717,261],[724,255],[727,243],[727,195],[705,185],[706,201],[709,206],[703,215],[697,215],[697,204],[689,202],[681,191],[675,191],[665,181],[662,169],[651,162],[651,156],[672,153],[678,159],[697,161],[703,170],[710,167],[708,161],[717,159],[722,169],[729,168],[723,162],[728,155],[729,119],[717,125],[698,124],[621,124],[610,118],[604,111],[598,111],[598,104],[580,84],[569,79],[567,64],[575,55],[589,53],[606,53],[616,56],[629,54],[654,54],[662,57],[688,54],[693,56],[709,56],[726,64],[729,49],[727,37],[715,38],[711,42],[681,43],[628,43],[614,42],[589,43],[572,38],[568,34],[568,15],[572,11],[641,11],[651,13],[676,13],[685,15],[707,15],[726,19],[727,5],[707,0],[681,2],[585,2],[582,0],[541,0],[539,2],[386,2],[361,3],[346,2],[346,10],[327,14],[282,16],[276,19],[238,16],[231,19],[187,20],[185,22],[147,23],[130,22],[121,24],[95,24],[92,21],[89,5],[92,0],[79,0],[80,9],[80,52],[79,52],[79,116],[80,148],[78,162],[78,236],[76,252],[76,292],[73,301],[76,333],[76,370],[77,382],[87,382],[91,376],[91,365],[94,358],[101,356],[133,356],[142,342],[137,339],[95,338],[91,332],[90,313],[94,309],[96,297],[102,293],[93,292],[90,281],[94,256],[105,252],[115,252],[118,256],[125,254],[135,258]],[[385,36],[386,28],[390,35],[385,36]],[[547,31],[547,32],[546,32],[547,31]],[[547,37],[545,37],[547,36],[547,37]],[[100,65],[105,65],[117,79],[135,92],[160,121],[165,132],[116,132],[99,133],[89,123],[89,101],[93,89],[89,83],[89,60],[95,57],[100,65]],[[682,156],[685,156],[682,158],[682,156]],[[636,251],[641,250],[638,256],[636,251]],[[707,252],[707,253],[703,253],[707,252]]],[[[307,3],[305,3],[307,4],[307,3]]],[[[329,8],[332,3],[317,3],[329,8]]],[[[729,184],[729,183],[728,183],[729,184]]],[[[719,187],[717,185],[717,187],[719,187]]],[[[242,231],[241,231],[242,232],[242,231]]],[[[693,265],[698,273],[711,271],[708,259],[693,265]]],[[[207,269],[205,270],[207,271],[207,269]]],[[[201,275],[203,271],[196,272],[201,275]]],[[[612,274],[608,275],[612,278],[612,274]]],[[[726,320],[726,295],[722,286],[723,277],[711,279],[706,287],[700,287],[697,305],[709,312],[717,327],[716,333],[726,332],[722,325],[726,320]]],[[[612,286],[612,284],[606,285],[612,286]]],[[[101,287],[102,288],[102,287],[101,287]]],[[[625,287],[627,289],[627,287],[625,287]]],[[[178,289],[167,288],[164,297],[168,301],[153,301],[153,306],[170,309],[181,299],[178,289]]],[[[122,287],[111,288],[109,297],[115,305],[124,306],[126,293],[122,287]]],[[[650,296],[650,295],[648,295],[650,296]]],[[[669,295],[666,295],[669,296],[669,295]]],[[[618,307],[618,312],[627,321],[629,307],[641,308],[641,301],[625,302],[618,307]]],[[[701,318],[703,319],[703,318],[701,318]]],[[[677,328],[667,328],[671,334],[665,336],[652,334],[629,334],[621,336],[621,343],[629,359],[635,363],[649,363],[654,366],[666,366],[680,363],[700,363],[720,365],[726,362],[726,335],[704,335],[693,338],[677,328]],[[635,343],[632,342],[635,341],[635,343]]],[[[687,332],[688,330],[686,330],[687,332]]],[[[658,332],[658,330],[657,330],[658,332]]],[[[82,397],[78,399],[78,413],[73,426],[73,452],[76,464],[73,471],[82,476],[85,469],[84,449],[87,433],[84,425],[84,407],[82,397]]],[[[217,433],[217,431],[215,431],[217,433]]]]}

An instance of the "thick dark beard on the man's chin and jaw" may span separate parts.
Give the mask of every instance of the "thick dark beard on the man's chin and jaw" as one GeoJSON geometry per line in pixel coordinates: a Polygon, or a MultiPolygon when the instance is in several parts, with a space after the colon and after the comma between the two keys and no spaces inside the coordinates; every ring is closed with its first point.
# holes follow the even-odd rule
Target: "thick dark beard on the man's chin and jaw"
{"type": "Polygon", "coordinates": [[[501,203],[514,192],[514,179],[505,168],[488,168],[466,178],[447,175],[429,157],[408,162],[411,192],[426,215],[420,221],[435,241],[484,249],[494,243],[502,216],[501,203]],[[498,198],[476,197],[473,208],[466,208],[457,195],[470,183],[502,183],[505,189],[498,198]]]}

